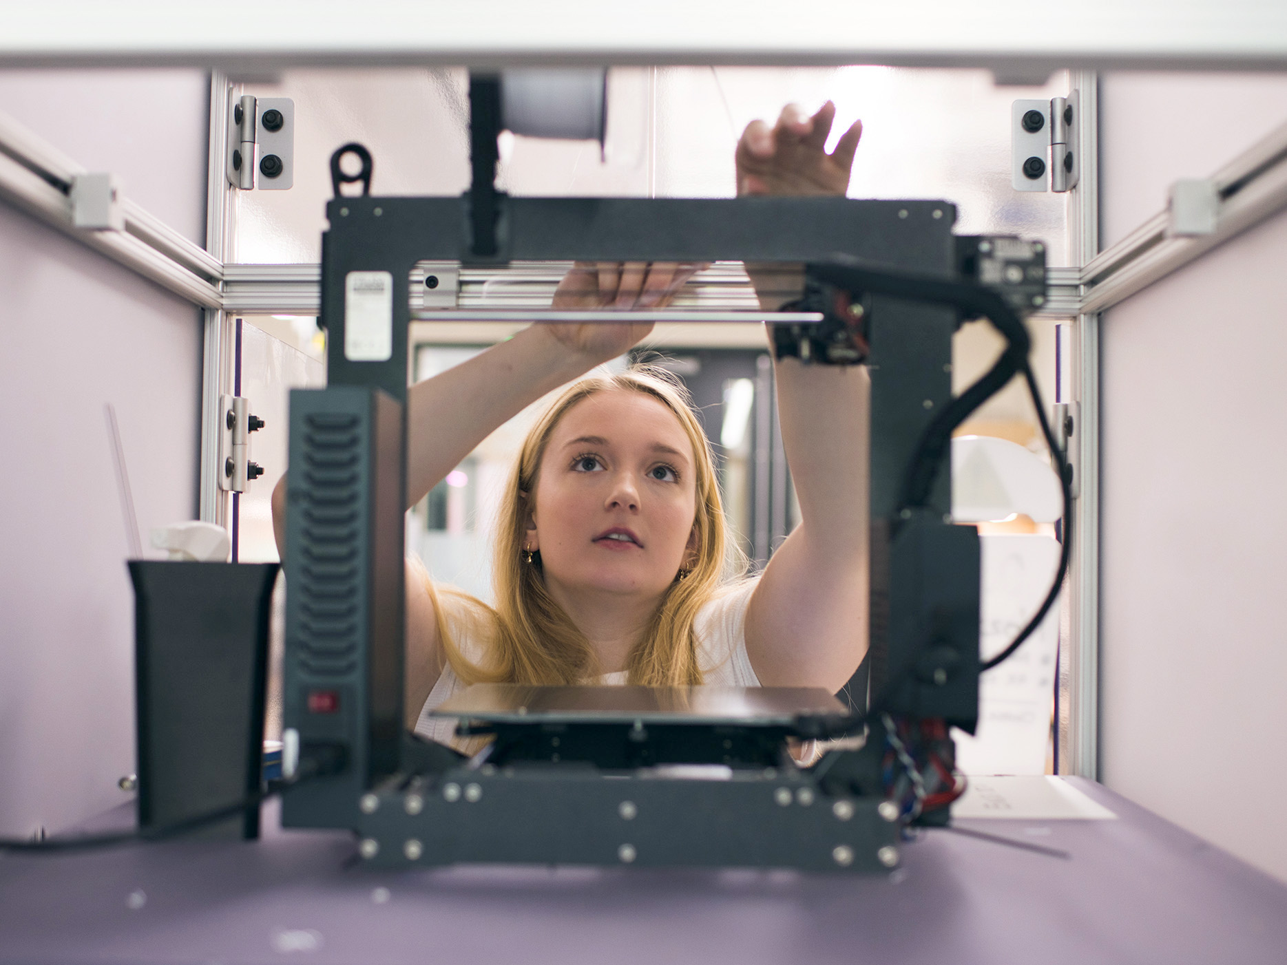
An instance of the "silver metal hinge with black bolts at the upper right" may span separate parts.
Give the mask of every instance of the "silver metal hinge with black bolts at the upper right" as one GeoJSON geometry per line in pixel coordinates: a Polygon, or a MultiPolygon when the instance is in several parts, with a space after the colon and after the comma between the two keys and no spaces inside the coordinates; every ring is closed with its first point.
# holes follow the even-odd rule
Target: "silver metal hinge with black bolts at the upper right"
{"type": "Polygon", "coordinates": [[[1064,192],[1081,179],[1077,91],[1010,106],[1010,184],[1015,190],[1064,192]]]}

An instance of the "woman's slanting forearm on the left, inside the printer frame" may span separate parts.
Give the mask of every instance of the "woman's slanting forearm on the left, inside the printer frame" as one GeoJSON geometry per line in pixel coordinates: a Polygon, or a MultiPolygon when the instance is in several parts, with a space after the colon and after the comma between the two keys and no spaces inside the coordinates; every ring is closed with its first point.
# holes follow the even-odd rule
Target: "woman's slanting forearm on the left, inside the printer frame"
{"type": "Polygon", "coordinates": [[[407,504],[546,392],[605,362],[532,326],[407,392],[407,504]]]}

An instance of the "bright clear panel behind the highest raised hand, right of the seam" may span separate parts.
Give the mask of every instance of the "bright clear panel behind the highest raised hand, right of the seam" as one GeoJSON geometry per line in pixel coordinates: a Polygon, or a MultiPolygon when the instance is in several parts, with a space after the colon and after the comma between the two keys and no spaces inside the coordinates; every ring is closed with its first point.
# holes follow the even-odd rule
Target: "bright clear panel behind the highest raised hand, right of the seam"
{"type": "Polygon", "coordinates": [[[910,67],[676,67],[656,72],[658,197],[731,197],[734,147],[748,124],[772,124],[782,107],[835,102],[828,142],[862,121],[849,197],[943,199],[958,234],[1019,234],[1066,261],[1064,197],[1010,187],[1010,103],[1067,93],[999,87],[988,71],[910,67]]]}

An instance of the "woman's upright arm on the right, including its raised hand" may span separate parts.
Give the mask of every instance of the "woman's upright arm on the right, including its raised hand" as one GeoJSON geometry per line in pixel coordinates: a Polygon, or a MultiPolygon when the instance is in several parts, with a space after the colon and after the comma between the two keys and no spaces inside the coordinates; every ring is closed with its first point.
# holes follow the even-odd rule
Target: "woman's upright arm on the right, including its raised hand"
{"type": "MultiPolygon", "coordinates": [[[[828,154],[834,117],[830,103],[812,117],[792,106],[772,130],[752,124],[737,145],[739,193],[843,196],[862,127],[849,127],[828,154]]],[[[753,282],[757,274],[752,266],[753,282]]],[[[870,382],[864,368],[798,359],[777,362],[775,373],[801,525],[752,596],[746,651],[766,685],[838,691],[867,646],[870,382]]]]}

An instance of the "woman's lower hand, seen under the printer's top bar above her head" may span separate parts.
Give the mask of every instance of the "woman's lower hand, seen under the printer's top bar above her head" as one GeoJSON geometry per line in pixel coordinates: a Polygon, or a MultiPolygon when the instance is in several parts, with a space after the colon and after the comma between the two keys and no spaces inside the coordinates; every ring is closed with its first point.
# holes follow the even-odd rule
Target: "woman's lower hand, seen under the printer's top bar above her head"
{"type": "MultiPolygon", "coordinates": [[[[671,302],[701,264],[655,261],[579,261],[555,291],[552,308],[571,310],[615,309],[647,311],[671,302]]],[[[611,313],[604,313],[611,319],[611,313]]],[[[651,322],[559,323],[543,328],[571,351],[606,362],[653,331],[651,322]]]]}

